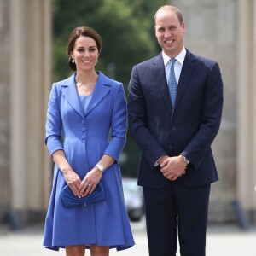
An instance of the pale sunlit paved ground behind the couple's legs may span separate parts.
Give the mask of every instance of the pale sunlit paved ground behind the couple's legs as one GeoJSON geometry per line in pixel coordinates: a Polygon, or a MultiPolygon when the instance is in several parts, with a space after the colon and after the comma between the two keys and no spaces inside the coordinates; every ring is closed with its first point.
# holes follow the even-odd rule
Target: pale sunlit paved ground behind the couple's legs
{"type": "MultiPolygon", "coordinates": [[[[144,222],[131,223],[136,246],[110,255],[148,256],[147,239],[144,222]]],[[[33,226],[25,230],[11,232],[0,226],[1,256],[64,256],[42,247],[43,225],[33,226]]],[[[86,253],[90,255],[90,253],[86,253]]],[[[177,253],[177,256],[180,256],[177,253]]],[[[242,231],[235,226],[210,226],[207,234],[207,256],[256,256],[256,228],[242,231]]]]}

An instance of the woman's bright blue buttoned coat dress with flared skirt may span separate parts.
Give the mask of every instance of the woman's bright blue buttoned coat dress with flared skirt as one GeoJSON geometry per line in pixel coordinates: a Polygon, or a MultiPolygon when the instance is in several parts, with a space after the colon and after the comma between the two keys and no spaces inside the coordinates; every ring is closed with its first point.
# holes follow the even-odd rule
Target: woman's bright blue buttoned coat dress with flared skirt
{"type": "Polygon", "coordinates": [[[67,183],[55,166],[44,228],[44,247],[49,249],[96,244],[123,250],[134,245],[118,163],[125,145],[125,92],[122,84],[108,79],[103,73],[98,74],[85,113],[76,89],[75,74],[53,84],[45,143],[49,154],[58,149],[64,150],[69,164],[81,180],[102,158],[102,154],[112,156],[115,162],[102,175],[106,199],[85,206],[64,207],[61,189],[67,183]]]}

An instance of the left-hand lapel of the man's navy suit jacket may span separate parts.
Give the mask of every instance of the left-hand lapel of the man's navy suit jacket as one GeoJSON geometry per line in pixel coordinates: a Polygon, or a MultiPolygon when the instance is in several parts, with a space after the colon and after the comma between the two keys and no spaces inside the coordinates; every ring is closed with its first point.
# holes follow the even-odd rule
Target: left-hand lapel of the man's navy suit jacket
{"type": "Polygon", "coordinates": [[[157,82],[157,85],[158,85],[157,87],[160,90],[160,94],[165,99],[168,111],[172,114],[172,102],[171,102],[171,97],[168,89],[168,84],[166,81],[165,65],[164,65],[164,61],[161,53],[156,57],[156,60],[153,62],[153,65],[155,66],[153,77],[157,82]]]}

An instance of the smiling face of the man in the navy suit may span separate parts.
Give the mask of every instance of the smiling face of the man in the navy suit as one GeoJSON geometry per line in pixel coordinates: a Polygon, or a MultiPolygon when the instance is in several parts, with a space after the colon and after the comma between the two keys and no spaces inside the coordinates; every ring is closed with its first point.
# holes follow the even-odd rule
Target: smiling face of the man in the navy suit
{"type": "Polygon", "coordinates": [[[155,36],[166,55],[176,57],[183,49],[185,23],[179,23],[177,15],[168,9],[160,10],[155,17],[155,36]]]}

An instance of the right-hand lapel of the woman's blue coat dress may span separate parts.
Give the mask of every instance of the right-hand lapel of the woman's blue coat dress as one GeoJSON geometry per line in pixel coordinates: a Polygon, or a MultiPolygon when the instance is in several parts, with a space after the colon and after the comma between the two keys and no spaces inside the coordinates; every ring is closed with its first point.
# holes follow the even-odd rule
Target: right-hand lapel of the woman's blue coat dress
{"type": "Polygon", "coordinates": [[[102,99],[108,94],[108,91],[110,90],[108,83],[108,78],[103,75],[101,72],[99,72],[99,77],[96,82],[96,86],[93,90],[90,102],[88,104],[88,107],[86,109],[85,116],[90,113],[90,111],[96,107],[96,105],[102,101],[102,99]]]}

